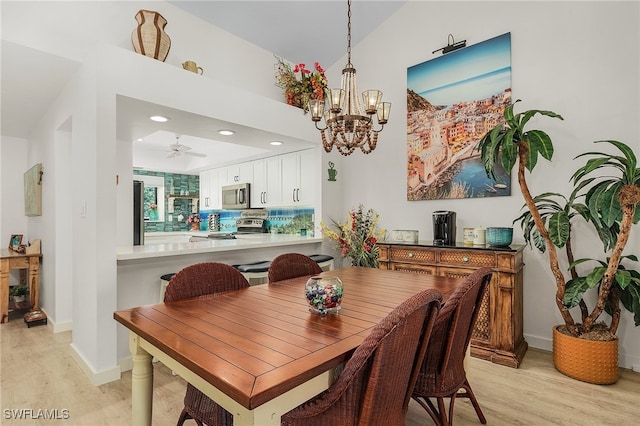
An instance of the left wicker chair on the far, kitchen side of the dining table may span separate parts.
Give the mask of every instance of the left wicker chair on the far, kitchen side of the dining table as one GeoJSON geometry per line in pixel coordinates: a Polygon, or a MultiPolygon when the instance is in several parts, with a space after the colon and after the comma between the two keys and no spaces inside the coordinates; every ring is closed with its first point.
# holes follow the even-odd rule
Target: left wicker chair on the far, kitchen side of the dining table
{"type": "MultiPolygon", "coordinates": [[[[246,287],[249,287],[249,282],[233,266],[217,262],[198,263],[187,266],[171,278],[164,301],[167,303],[246,287]]],[[[178,426],[188,419],[194,419],[200,426],[203,423],[209,426],[233,424],[231,413],[189,383],[178,426]]]]}

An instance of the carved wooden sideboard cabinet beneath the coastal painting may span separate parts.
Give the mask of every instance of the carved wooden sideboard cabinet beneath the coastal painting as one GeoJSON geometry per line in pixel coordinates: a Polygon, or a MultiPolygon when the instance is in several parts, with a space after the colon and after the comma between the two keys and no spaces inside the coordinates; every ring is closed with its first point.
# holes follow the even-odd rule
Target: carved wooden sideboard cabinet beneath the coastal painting
{"type": "Polygon", "coordinates": [[[471,356],[514,368],[520,365],[528,346],[522,324],[524,246],[378,245],[381,269],[465,277],[478,268],[491,268],[491,283],[471,337],[471,356]]]}

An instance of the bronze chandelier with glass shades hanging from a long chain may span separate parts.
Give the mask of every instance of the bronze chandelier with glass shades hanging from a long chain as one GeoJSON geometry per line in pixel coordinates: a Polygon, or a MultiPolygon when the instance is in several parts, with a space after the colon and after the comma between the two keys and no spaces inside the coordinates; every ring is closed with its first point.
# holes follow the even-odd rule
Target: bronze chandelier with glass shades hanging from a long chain
{"type": "Polygon", "coordinates": [[[381,102],[382,92],[366,90],[362,93],[364,109],[358,96],[356,69],[351,63],[351,0],[347,13],[347,65],[342,70],[342,88],[330,89],[326,98],[329,110],[325,111],[325,99],[309,100],[311,120],[322,135],[322,146],[331,152],[335,146],[342,155],[350,155],[356,148],[369,154],[376,149],[378,133],[389,120],[391,103],[381,102]],[[379,129],[373,128],[373,115],[378,118],[379,129]],[[318,123],[324,119],[324,127],[318,123]]]}

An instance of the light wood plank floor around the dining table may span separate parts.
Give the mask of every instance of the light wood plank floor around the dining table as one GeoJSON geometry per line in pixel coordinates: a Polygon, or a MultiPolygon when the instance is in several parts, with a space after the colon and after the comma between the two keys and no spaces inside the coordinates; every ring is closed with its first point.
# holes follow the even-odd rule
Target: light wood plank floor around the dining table
{"type": "MultiPolygon", "coordinates": [[[[127,425],[131,422],[131,372],[94,387],[70,355],[71,333],[27,328],[20,319],[0,326],[0,424],[127,425]],[[58,410],[66,420],[15,420],[6,410],[58,410]]],[[[153,424],[174,425],[185,382],[155,363],[153,424]]],[[[468,376],[489,425],[637,425],[640,374],[621,370],[618,383],[596,386],[558,373],[551,354],[529,349],[521,368],[470,359],[468,376]]],[[[188,422],[188,424],[195,424],[188,422]]],[[[407,425],[431,425],[412,402],[407,425]]],[[[456,403],[456,426],[479,425],[466,400],[456,403]]]]}

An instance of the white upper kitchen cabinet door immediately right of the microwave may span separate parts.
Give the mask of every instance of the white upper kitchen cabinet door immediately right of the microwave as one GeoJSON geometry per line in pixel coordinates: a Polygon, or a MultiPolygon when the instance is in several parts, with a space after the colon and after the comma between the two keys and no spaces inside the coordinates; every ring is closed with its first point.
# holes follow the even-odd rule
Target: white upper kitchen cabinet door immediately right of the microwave
{"type": "Polygon", "coordinates": [[[252,207],[277,207],[282,203],[280,159],[264,158],[252,161],[252,207]]]}

